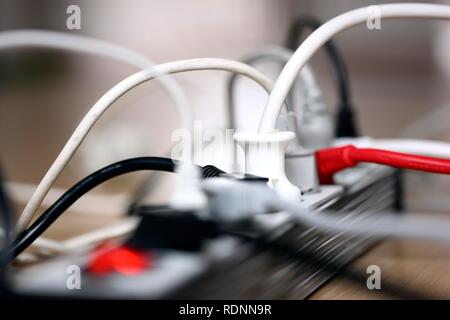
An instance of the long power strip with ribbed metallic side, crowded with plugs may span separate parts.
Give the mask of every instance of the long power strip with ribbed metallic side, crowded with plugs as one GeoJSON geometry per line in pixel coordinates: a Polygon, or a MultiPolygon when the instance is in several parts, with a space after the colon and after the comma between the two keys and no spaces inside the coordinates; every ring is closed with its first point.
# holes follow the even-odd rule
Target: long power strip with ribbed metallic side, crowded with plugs
{"type": "MultiPolygon", "coordinates": [[[[305,207],[351,216],[393,208],[397,194],[394,170],[362,166],[346,174],[343,177],[353,181],[351,185],[323,187],[321,192],[306,195],[305,207]]],[[[255,228],[342,265],[374,244],[366,236],[327,235],[293,225],[283,213],[259,216],[255,228]]],[[[71,298],[302,299],[334,275],[314,263],[294,263],[229,236],[211,240],[198,253],[164,250],[156,257],[148,270],[135,276],[82,271],[81,288],[70,290],[70,266],[83,270],[89,259],[81,253],[17,270],[13,284],[21,294],[71,298]]]]}

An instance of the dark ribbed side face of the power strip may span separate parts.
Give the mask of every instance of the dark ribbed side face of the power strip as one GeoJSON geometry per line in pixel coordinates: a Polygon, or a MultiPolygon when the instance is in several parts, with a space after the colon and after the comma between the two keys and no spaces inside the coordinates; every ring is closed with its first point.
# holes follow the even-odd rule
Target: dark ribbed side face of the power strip
{"type": "MultiPolygon", "coordinates": [[[[391,210],[396,203],[395,171],[382,167],[366,167],[368,185],[353,188],[351,193],[329,199],[320,209],[336,210],[346,216],[363,216],[380,210],[391,210]]],[[[359,171],[359,170],[358,170],[359,171]]],[[[362,172],[362,171],[360,171],[362,172]]],[[[354,174],[354,173],[351,173],[354,174]]],[[[319,209],[319,210],[320,210],[319,209]]],[[[315,228],[288,223],[272,230],[274,237],[299,249],[307,249],[317,257],[346,265],[375,244],[367,236],[327,235],[315,228]]],[[[335,275],[318,268],[314,262],[294,262],[271,251],[241,253],[241,260],[219,266],[202,280],[181,290],[176,298],[193,299],[304,299],[335,275]]]]}

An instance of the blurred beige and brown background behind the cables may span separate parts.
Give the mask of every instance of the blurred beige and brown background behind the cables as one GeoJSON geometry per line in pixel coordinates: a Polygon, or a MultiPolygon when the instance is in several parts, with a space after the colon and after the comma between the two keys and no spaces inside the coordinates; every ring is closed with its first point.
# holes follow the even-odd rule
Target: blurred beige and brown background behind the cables
{"type": "MultiPolygon", "coordinates": [[[[283,45],[290,24],[301,14],[326,21],[357,7],[384,2],[392,1],[0,0],[0,29],[88,35],[129,47],[158,63],[197,57],[239,59],[263,45],[283,45]],[[66,9],[72,4],[81,8],[81,30],[66,28],[66,9]]],[[[362,134],[398,137],[431,110],[450,106],[450,24],[396,20],[382,21],[381,27],[355,27],[335,41],[347,63],[362,134]]],[[[260,67],[274,79],[279,70],[260,67]]],[[[322,51],[313,58],[312,67],[334,112],[335,88],[322,51]]],[[[115,61],[66,51],[0,51],[0,161],[8,180],[37,183],[83,115],[108,89],[135,71],[115,61]]],[[[217,71],[174,75],[194,106],[196,119],[205,127],[226,123],[227,76],[217,71]]],[[[256,126],[266,98],[255,84],[239,81],[237,104],[240,118],[247,120],[244,126],[256,126]]],[[[442,125],[449,119],[438,121],[442,125]]],[[[105,114],[57,185],[68,187],[113,161],[165,155],[178,126],[173,102],[157,82],[148,82],[105,114]],[[133,137],[136,143],[127,143],[133,137]]],[[[450,124],[430,138],[448,141],[450,124]]],[[[134,177],[116,179],[102,192],[131,192],[139,181],[134,177]]],[[[411,210],[450,208],[443,196],[435,207],[434,200],[422,201],[436,196],[433,190],[442,194],[450,190],[448,177],[411,174],[408,185],[411,210]],[[418,182],[421,188],[414,188],[418,182]]],[[[170,178],[164,179],[153,200],[167,199],[170,186],[170,178]]]]}

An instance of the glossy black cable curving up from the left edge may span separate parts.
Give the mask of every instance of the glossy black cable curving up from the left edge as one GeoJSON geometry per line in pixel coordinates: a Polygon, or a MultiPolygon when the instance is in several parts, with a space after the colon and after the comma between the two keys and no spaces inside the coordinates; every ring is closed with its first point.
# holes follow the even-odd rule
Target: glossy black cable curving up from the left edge
{"type": "MultiPolygon", "coordinates": [[[[174,172],[176,162],[168,158],[160,157],[140,157],[119,161],[110,164],[79,181],[72,188],[66,191],[51,207],[49,207],[36,221],[12,243],[8,253],[3,254],[3,259],[11,261],[55,222],[75,201],[89,192],[96,186],[114,177],[142,170],[156,170],[174,172]]],[[[202,169],[204,178],[219,176],[224,172],[213,166],[202,169]]]]}

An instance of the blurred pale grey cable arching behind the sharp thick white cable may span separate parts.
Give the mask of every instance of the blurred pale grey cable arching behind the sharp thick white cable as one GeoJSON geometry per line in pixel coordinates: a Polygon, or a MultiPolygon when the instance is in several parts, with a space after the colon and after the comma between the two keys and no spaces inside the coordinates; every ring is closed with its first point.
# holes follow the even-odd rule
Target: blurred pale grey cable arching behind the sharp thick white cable
{"type": "MultiPolygon", "coordinates": [[[[289,58],[292,56],[293,51],[287,48],[278,47],[278,46],[266,46],[261,47],[252,53],[246,55],[240,61],[243,63],[252,65],[260,61],[275,61],[280,62],[281,65],[284,65],[289,58]]],[[[305,97],[317,97],[322,96],[322,92],[317,84],[317,81],[314,77],[314,74],[309,66],[305,66],[305,68],[300,72],[300,80],[303,85],[303,95],[305,97]]],[[[237,80],[237,74],[232,74],[228,78],[227,84],[227,93],[228,93],[228,112],[229,112],[229,122],[231,127],[234,127],[234,117],[235,117],[235,102],[234,102],[234,87],[237,80]]],[[[292,108],[292,101],[290,103],[290,107],[292,108]]]]}

